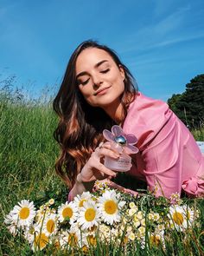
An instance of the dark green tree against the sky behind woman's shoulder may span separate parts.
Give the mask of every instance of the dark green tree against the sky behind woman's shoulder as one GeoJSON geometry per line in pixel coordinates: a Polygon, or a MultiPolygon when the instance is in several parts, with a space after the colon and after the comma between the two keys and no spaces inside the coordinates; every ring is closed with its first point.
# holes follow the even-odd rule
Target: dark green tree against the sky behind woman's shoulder
{"type": "Polygon", "coordinates": [[[181,95],[172,95],[169,107],[189,128],[204,126],[204,74],[196,75],[181,95]]]}

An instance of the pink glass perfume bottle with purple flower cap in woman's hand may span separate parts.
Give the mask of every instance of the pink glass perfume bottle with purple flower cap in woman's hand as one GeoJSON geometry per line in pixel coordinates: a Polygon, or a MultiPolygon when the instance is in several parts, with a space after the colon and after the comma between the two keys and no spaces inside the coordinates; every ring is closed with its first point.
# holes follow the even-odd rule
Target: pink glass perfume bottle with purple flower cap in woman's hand
{"type": "Polygon", "coordinates": [[[122,128],[118,125],[112,127],[112,133],[109,130],[104,130],[103,135],[107,141],[111,142],[113,151],[119,153],[118,159],[105,156],[105,167],[117,172],[127,172],[131,169],[131,156],[136,154],[138,148],[133,145],[137,143],[135,135],[125,135],[122,128]]]}

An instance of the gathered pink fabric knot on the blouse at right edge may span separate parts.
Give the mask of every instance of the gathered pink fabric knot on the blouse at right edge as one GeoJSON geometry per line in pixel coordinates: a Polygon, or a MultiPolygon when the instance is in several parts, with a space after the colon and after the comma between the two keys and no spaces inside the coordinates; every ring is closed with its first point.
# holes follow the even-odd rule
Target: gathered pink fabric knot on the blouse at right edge
{"type": "Polygon", "coordinates": [[[190,197],[204,196],[204,179],[192,177],[182,182],[182,189],[190,197]]]}

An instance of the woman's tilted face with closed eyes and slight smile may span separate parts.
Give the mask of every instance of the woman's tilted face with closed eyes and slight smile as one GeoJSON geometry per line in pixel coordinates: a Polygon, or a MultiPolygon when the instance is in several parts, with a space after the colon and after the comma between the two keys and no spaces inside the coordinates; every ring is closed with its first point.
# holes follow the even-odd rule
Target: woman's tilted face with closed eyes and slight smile
{"type": "Polygon", "coordinates": [[[120,103],[120,95],[124,92],[124,69],[118,67],[105,50],[84,49],[75,68],[76,80],[86,102],[104,109],[113,102],[120,103]]]}

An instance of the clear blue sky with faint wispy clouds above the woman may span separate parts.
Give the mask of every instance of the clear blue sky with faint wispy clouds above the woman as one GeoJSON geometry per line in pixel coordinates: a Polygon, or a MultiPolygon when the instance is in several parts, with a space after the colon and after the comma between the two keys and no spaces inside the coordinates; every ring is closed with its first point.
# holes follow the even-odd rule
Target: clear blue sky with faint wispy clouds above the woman
{"type": "Polygon", "coordinates": [[[56,90],[79,43],[115,49],[139,89],[166,101],[204,73],[203,0],[0,0],[0,81],[56,90]]]}

